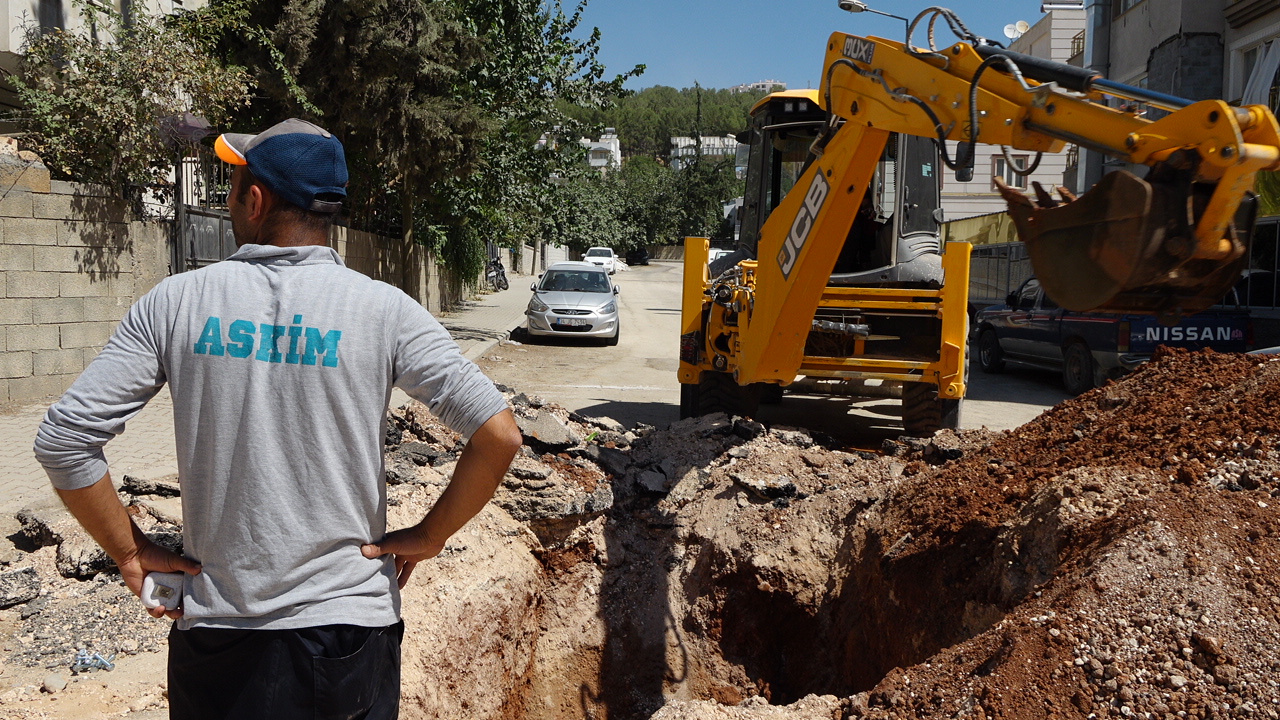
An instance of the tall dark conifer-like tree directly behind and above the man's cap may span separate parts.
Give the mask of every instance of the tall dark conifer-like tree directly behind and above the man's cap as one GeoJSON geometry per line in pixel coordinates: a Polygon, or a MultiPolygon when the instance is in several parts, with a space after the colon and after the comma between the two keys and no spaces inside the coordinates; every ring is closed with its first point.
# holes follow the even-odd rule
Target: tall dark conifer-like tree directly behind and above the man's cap
{"type": "MultiPolygon", "coordinates": [[[[424,0],[260,1],[252,24],[271,45],[230,38],[253,58],[271,119],[310,118],[332,128],[352,169],[352,211],[376,211],[394,188],[401,218],[431,204],[431,187],[479,167],[492,118],[465,92],[483,42],[448,3],[424,0]],[[269,56],[278,53],[287,73],[269,56]],[[297,88],[288,78],[297,78],[297,88]]],[[[406,240],[412,223],[402,222],[406,240]]]]}

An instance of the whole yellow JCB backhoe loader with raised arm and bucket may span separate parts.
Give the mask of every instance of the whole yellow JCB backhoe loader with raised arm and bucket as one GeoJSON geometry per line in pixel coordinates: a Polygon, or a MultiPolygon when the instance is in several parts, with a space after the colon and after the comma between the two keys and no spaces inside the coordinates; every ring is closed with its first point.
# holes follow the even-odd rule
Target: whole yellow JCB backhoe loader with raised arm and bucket
{"type": "Polygon", "coordinates": [[[938,176],[972,179],[979,142],[1037,152],[1024,173],[1068,142],[1151,167],[1146,178],[1110,173],[1079,199],[1002,187],[1060,306],[1175,319],[1239,277],[1254,174],[1280,169],[1267,108],[1192,102],[1011,53],[941,8],[918,15],[906,41],[837,32],[818,91],[753,109],[739,251],[708,266],[708,240],[685,241],[681,416],[750,415],[804,377],[808,392],[901,386],[909,433],[955,427],[969,245],[938,240],[938,176]],[[960,42],[934,46],[940,18],[960,42]],[[928,46],[915,47],[925,22],[928,46]],[[1147,119],[1108,97],[1167,114],[1147,119]]]}

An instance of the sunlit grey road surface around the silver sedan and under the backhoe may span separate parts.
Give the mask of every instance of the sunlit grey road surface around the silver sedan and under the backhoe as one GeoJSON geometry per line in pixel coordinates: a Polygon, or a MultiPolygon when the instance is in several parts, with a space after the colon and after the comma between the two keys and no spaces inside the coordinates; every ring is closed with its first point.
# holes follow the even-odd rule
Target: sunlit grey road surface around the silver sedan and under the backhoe
{"type": "MultiPolygon", "coordinates": [[[[516,332],[522,345],[495,347],[480,360],[497,382],[586,415],[608,415],[627,425],[664,425],[678,419],[676,351],[680,336],[678,263],[655,261],[614,275],[620,286],[622,334],[616,347],[581,338],[538,338],[516,332]]],[[[516,328],[513,328],[516,329],[516,328]]],[[[1011,429],[1065,400],[1056,373],[1010,368],[987,375],[974,366],[961,427],[1011,429]]],[[[874,446],[901,434],[897,400],[788,395],[762,406],[768,423],[822,429],[854,445],[874,446]]]]}

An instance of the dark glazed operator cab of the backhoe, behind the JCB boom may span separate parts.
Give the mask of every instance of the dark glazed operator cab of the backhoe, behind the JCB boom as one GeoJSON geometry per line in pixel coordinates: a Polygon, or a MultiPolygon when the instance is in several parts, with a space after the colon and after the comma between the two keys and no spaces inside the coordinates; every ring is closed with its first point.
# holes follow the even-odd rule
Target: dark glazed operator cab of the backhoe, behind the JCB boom
{"type": "MultiPolygon", "coordinates": [[[[817,159],[810,147],[828,117],[814,90],[776,92],[753,108],[750,129],[739,136],[750,145],[741,252],[717,261],[713,275],[744,258],[756,258],[760,228],[817,159]]],[[[942,286],[940,169],[932,140],[890,136],[829,284],[942,286]]]]}

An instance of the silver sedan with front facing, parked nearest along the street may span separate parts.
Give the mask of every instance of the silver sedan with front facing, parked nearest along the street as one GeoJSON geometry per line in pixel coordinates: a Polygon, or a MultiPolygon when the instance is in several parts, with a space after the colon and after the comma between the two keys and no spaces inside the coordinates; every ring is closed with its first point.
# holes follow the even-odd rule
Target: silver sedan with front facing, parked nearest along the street
{"type": "Polygon", "coordinates": [[[603,338],[618,343],[618,286],[599,265],[556,263],[532,284],[529,334],[603,338]]]}

